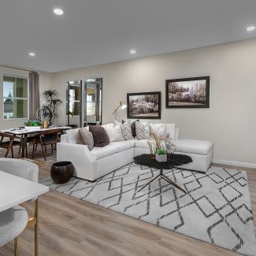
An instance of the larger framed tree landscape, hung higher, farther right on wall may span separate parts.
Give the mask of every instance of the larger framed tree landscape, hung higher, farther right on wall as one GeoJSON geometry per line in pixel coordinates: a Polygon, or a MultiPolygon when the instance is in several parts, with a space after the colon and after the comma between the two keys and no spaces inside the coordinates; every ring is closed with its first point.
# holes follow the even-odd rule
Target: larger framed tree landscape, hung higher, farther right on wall
{"type": "Polygon", "coordinates": [[[166,108],[209,108],[210,76],[166,80],[166,108]]]}

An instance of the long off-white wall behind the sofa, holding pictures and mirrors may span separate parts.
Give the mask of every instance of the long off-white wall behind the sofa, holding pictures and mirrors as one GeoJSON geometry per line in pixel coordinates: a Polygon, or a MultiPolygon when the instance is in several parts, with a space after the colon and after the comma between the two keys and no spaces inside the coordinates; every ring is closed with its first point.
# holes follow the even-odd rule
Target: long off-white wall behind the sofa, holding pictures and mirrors
{"type": "MultiPolygon", "coordinates": [[[[256,167],[255,57],[252,39],[56,72],[52,82],[65,99],[66,81],[103,77],[103,123],[113,120],[113,109],[128,92],[161,91],[162,118],[155,122],[176,123],[181,138],[212,140],[216,161],[256,167]],[[165,80],[191,76],[210,76],[210,109],[165,109],[165,80]]],[[[65,104],[58,122],[65,124],[65,104]]]]}

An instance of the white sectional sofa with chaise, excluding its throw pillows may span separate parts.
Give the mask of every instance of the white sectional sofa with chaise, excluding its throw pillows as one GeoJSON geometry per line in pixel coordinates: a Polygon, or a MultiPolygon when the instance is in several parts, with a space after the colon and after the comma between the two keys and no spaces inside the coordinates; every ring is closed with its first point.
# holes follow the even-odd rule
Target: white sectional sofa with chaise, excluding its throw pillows
{"type": "MultiPolygon", "coordinates": [[[[193,160],[179,168],[206,173],[213,160],[213,142],[179,139],[179,135],[179,129],[174,128],[171,139],[177,147],[176,154],[187,154],[193,160]]],[[[76,140],[69,139],[65,134],[61,135],[61,143],[57,144],[57,161],[71,161],[76,168],[76,176],[91,181],[127,165],[136,155],[149,153],[146,139],[113,142],[106,147],[94,147],[90,151],[86,145],[77,144],[76,140]]]]}

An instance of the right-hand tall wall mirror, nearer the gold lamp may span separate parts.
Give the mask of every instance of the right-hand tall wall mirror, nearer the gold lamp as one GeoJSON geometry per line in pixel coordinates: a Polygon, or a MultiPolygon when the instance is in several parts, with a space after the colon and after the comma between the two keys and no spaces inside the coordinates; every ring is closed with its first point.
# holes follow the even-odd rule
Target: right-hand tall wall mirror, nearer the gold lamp
{"type": "Polygon", "coordinates": [[[84,81],[84,126],[102,124],[102,78],[84,81]]]}

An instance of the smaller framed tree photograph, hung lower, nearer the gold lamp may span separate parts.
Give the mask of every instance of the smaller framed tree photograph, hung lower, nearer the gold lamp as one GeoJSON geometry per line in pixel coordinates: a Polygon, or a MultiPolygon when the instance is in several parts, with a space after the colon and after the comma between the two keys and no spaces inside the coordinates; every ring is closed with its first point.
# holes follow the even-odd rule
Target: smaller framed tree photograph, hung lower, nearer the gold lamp
{"type": "Polygon", "coordinates": [[[127,117],[161,119],[161,91],[127,94],[127,117]]]}

